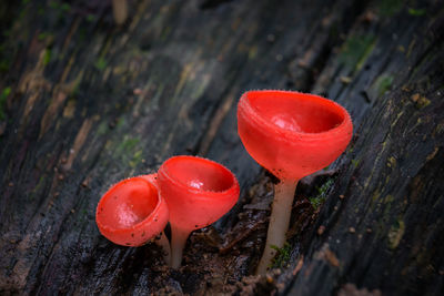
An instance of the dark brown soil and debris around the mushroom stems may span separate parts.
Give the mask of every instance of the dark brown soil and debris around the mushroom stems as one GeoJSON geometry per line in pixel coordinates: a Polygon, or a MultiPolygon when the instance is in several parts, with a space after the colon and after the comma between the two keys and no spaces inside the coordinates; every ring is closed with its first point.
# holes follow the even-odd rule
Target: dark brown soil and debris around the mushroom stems
{"type": "Polygon", "coordinates": [[[301,252],[295,251],[303,249],[304,234],[310,233],[319,213],[305,196],[330,174],[320,173],[300,183],[287,237],[293,252],[284,261],[274,263],[266,275],[254,275],[254,269],[266,238],[275,183],[268,173],[245,193],[245,198],[240,198],[243,211],[225,233],[210,225],[190,235],[179,269],[171,269],[163,263],[157,245],[143,247],[159,258],[148,266],[152,271],[148,283],[151,295],[274,295],[283,292],[283,282],[294,276],[301,265],[301,252]],[[297,245],[300,247],[295,247],[297,245]],[[294,266],[290,266],[290,262],[294,262],[294,266]]]}

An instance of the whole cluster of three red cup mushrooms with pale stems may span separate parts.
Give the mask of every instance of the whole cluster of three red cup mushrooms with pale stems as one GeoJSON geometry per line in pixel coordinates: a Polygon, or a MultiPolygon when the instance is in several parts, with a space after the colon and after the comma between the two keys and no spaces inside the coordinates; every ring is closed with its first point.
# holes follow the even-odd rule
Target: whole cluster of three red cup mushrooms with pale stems
{"type": "MultiPolygon", "coordinates": [[[[353,125],[343,106],[314,94],[249,91],[238,104],[238,132],[249,154],[280,180],[256,268],[256,274],[264,274],[285,243],[297,182],[344,152],[353,125]]],[[[178,268],[190,233],[228,213],[239,193],[236,177],[223,165],[198,156],[173,156],[157,174],[113,185],[100,200],[95,221],[101,234],[115,244],[158,242],[165,262],[178,268]],[[163,233],[168,222],[171,247],[163,233]]]]}

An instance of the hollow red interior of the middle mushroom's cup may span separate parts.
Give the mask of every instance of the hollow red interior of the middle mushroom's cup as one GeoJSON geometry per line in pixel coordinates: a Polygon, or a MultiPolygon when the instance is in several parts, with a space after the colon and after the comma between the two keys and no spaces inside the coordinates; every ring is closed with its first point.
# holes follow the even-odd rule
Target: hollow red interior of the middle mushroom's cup
{"type": "Polygon", "coordinates": [[[168,171],[175,181],[201,191],[222,192],[233,186],[229,171],[196,157],[170,161],[168,171]]]}

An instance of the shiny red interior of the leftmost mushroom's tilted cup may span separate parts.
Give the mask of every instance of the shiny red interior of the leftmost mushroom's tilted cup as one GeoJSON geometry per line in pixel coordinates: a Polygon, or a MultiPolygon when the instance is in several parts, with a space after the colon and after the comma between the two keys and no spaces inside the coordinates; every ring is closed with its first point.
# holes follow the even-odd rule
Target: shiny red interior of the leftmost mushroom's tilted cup
{"type": "Polygon", "coordinates": [[[148,217],[155,208],[158,194],[143,180],[132,180],[107,193],[100,203],[100,222],[112,228],[129,228],[148,217]]]}

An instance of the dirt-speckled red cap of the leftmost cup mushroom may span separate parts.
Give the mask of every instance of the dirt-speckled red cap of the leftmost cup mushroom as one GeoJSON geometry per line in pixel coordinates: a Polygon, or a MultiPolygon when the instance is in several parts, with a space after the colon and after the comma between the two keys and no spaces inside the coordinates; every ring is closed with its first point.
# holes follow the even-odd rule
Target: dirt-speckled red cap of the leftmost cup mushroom
{"type": "Polygon", "coordinates": [[[143,245],[167,226],[167,203],[148,180],[142,176],[123,180],[100,200],[95,223],[100,233],[114,244],[143,245]]]}

